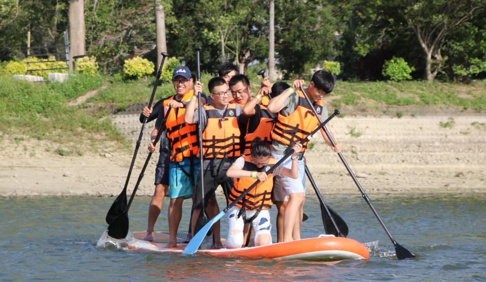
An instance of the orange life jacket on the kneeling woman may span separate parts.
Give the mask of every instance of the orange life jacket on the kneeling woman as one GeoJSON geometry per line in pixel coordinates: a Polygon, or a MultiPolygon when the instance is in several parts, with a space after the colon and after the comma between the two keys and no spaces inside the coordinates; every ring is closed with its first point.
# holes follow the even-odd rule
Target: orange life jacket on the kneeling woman
{"type": "MultiPolygon", "coordinates": [[[[251,155],[244,155],[244,165],[243,170],[246,171],[259,171],[264,172],[268,166],[275,164],[276,159],[270,158],[267,165],[258,168],[252,161],[251,155]]],[[[240,196],[243,191],[248,189],[257,179],[252,177],[240,177],[234,178],[234,186],[228,195],[228,204],[232,203],[238,196],[240,196]]],[[[272,207],[272,189],[273,189],[273,173],[267,175],[267,180],[259,182],[255,188],[251,189],[248,194],[246,194],[243,199],[241,199],[235,206],[242,208],[244,206],[245,210],[264,210],[270,209],[272,207]]]]}

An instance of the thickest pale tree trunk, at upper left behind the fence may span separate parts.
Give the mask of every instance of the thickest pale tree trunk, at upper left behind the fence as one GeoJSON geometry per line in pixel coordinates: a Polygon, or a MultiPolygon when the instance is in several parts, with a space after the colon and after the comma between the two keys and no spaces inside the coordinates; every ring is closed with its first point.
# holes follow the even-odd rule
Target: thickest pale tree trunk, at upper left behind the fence
{"type": "Polygon", "coordinates": [[[73,57],[86,54],[85,1],[69,0],[69,70],[73,57]]]}

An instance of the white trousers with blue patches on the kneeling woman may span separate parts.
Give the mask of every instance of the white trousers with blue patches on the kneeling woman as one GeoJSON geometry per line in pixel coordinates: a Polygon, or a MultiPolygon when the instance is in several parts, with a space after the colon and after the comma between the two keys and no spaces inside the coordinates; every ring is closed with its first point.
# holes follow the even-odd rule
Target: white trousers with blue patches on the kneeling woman
{"type": "MultiPolygon", "coordinates": [[[[232,207],[226,214],[228,220],[228,236],[226,238],[226,247],[233,249],[243,246],[243,216],[238,217],[240,212],[239,207],[232,207]]],[[[245,211],[246,218],[252,217],[257,211],[245,211]]],[[[272,244],[272,224],[270,223],[270,212],[268,209],[261,210],[258,216],[251,222],[251,226],[255,231],[255,238],[260,234],[268,234],[270,236],[270,244],[272,244]]]]}

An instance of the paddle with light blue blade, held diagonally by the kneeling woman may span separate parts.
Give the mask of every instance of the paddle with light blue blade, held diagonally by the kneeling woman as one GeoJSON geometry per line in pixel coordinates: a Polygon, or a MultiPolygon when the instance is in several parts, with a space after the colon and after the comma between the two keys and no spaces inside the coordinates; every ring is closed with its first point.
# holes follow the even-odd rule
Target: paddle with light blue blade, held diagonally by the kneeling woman
{"type": "MultiPolygon", "coordinates": [[[[306,141],[309,141],[309,138],[315,134],[317,131],[319,131],[326,123],[328,123],[334,116],[338,115],[339,114],[339,110],[338,109],[335,109],[334,110],[334,113],[332,113],[332,115],[330,115],[323,123],[321,123],[319,126],[317,126],[306,138],[304,139],[301,139],[300,142],[301,143],[304,143],[306,141]]],[[[298,141],[298,140],[297,140],[298,141]]],[[[291,148],[290,146],[292,146],[293,144],[289,144],[289,148],[291,148]]],[[[294,153],[294,150],[291,149],[290,152],[288,152],[287,154],[285,154],[285,156],[283,156],[282,159],[278,160],[278,162],[276,164],[274,164],[268,171],[267,171],[267,174],[269,173],[273,173],[273,171],[283,162],[285,161],[285,159],[289,158],[292,154],[294,153]]],[[[184,251],[182,252],[183,254],[194,254],[197,249],[199,248],[199,246],[201,246],[201,243],[203,242],[204,240],[204,237],[206,236],[206,233],[209,231],[209,229],[213,226],[214,223],[216,223],[218,220],[220,220],[223,215],[225,215],[226,212],[228,212],[234,205],[236,205],[236,203],[238,203],[241,199],[243,199],[243,197],[248,194],[248,192],[250,192],[258,183],[260,182],[260,180],[256,180],[250,187],[248,187],[247,189],[245,189],[243,191],[243,193],[241,195],[239,195],[231,204],[229,204],[223,211],[221,211],[220,213],[218,213],[216,216],[214,216],[213,218],[211,218],[209,220],[209,222],[201,229],[199,230],[199,232],[196,233],[196,235],[194,235],[192,237],[192,240],[189,242],[189,244],[187,244],[186,248],[184,249],[184,251]]]]}

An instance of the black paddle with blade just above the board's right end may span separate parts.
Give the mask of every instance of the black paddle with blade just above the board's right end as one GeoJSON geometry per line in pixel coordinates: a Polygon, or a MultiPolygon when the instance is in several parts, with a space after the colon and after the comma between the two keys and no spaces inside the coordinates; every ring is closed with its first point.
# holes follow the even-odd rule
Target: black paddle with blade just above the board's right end
{"type": "Polygon", "coordinates": [[[330,206],[326,205],[307,164],[305,165],[305,174],[309,178],[309,181],[311,181],[312,188],[314,188],[314,192],[321,204],[322,224],[324,225],[326,234],[333,234],[336,237],[346,237],[349,232],[346,222],[330,206]]]}

